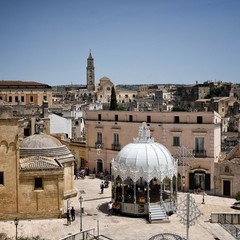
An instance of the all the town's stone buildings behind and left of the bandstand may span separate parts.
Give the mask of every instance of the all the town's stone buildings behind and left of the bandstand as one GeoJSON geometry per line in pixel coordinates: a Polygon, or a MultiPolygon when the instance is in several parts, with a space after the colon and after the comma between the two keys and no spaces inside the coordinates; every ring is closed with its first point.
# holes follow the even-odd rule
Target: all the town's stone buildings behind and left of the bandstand
{"type": "Polygon", "coordinates": [[[63,214],[77,194],[74,173],[111,175],[143,122],[178,159],[179,190],[240,191],[240,85],[95,83],[91,53],[86,71],[86,85],[0,81],[0,219],[63,214]],[[112,88],[122,111],[109,110],[112,88]]]}

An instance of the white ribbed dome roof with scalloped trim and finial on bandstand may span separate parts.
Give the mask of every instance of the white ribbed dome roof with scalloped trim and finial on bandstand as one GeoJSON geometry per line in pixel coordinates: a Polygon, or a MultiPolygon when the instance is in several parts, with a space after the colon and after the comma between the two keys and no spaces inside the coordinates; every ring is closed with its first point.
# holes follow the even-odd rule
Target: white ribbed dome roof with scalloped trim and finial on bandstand
{"type": "Polygon", "coordinates": [[[144,122],[139,127],[138,137],[127,144],[112,161],[112,173],[123,179],[130,177],[136,182],[140,177],[150,182],[153,178],[161,181],[177,175],[177,161],[169,150],[154,142],[150,130],[144,122]]]}

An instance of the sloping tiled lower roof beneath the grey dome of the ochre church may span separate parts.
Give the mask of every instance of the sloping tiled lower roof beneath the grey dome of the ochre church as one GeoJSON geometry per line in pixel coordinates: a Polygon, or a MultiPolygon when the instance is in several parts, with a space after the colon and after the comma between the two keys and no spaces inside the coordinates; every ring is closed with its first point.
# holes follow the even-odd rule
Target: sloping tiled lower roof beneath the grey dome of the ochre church
{"type": "Polygon", "coordinates": [[[32,156],[28,158],[20,158],[20,170],[49,170],[62,168],[62,165],[55,159],[50,157],[32,156]]]}

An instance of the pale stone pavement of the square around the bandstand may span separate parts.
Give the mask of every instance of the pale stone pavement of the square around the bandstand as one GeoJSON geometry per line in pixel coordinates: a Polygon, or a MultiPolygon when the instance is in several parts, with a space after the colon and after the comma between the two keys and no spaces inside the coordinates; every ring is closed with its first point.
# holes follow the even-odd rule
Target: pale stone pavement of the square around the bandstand
{"type": "MultiPolygon", "coordinates": [[[[99,234],[113,240],[147,240],[160,233],[175,233],[186,236],[186,226],[180,223],[177,214],[170,216],[170,223],[149,224],[142,218],[131,218],[125,216],[108,216],[107,203],[111,199],[111,185],[100,194],[99,179],[75,180],[75,188],[81,192],[83,197],[82,216],[83,230],[99,227],[99,234]]],[[[179,193],[181,198],[185,193],[179,193]]],[[[230,206],[234,199],[205,195],[205,204],[202,204],[202,195],[191,194],[201,211],[202,215],[197,219],[196,224],[189,228],[190,240],[233,240],[234,238],[226,232],[219,224],[209,222],[211,212],[238,212],[230,206]]],[[[46,220],[21,220],[18,225],[18,236],[31,237],[40,236],[46,240],[59,240],[69,234],[80,230],[80,204],[78,197],[71,199],[70,207],[76,209],[76,220],[67,225],[65,218],[46,220]]],[[[0,233],[6,233],[9,237],[15,236],[15,225],[13,221],[0,221],[0,233]]]]}

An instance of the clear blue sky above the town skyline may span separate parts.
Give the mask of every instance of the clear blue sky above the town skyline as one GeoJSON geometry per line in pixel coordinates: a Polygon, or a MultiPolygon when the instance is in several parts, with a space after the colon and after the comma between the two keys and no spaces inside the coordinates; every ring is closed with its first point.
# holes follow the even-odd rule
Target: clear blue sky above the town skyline
{"type": "Polygon", "coordinates": [[[240,0],[0,0],[0,80],[240,83],[240,0]]]}

